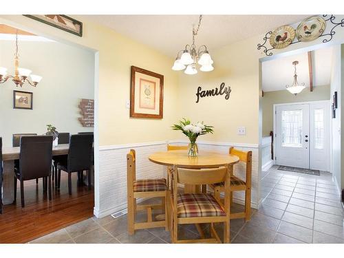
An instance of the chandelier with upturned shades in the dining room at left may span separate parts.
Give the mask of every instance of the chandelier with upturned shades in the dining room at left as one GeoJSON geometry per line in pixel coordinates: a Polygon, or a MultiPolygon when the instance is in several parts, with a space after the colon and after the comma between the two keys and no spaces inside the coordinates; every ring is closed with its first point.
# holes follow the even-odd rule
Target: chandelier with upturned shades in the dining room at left
{"type": "Polygon", "coordinates": [[[25,82],[28,82],[31,86],[36,87],[36,85],[41,81],[42,77],[38,75],[31,74],[30,69],[25,69],[19,67],[19,54],[18,54],[18,30],[16,33],[16,53],[14,54],[14,76],[7,75],[7,68],[0,67],[0,83],[5,83],[6,80],[12,78],[12,81],[15,85],[20,87],[23,86],[25,82]],[[28,76],[31,77],[30,81],[28,76]]]}

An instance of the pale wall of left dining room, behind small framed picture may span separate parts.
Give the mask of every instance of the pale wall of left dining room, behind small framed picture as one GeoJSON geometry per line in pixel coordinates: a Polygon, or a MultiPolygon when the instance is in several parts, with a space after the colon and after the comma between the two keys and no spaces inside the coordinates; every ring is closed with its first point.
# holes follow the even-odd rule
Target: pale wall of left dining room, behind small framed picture
{"type": "MultiPolygon", "coordinates": [[[[13,133],[45,133],[47,124],[60,132],[93,131],[82,127],[80,98],[94,98],[94,53],[53,41],[19,41],[19,67],[43,76],[37,87],[0,84],[0,136],[12,146],[13,133]],[[13,90],[33,92],[33,110],[13,109],[13,90]]],[[[0,41],[0,66],[14,74],[14,41],[0,41]]]]}

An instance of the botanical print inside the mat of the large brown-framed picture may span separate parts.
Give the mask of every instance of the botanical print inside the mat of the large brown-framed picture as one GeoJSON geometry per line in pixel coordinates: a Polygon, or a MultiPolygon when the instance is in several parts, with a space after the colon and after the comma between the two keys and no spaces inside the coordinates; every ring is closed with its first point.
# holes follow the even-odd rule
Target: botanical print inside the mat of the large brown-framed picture
{"type": "Polygon", "coordinates": [[[155,109],[155,82],[140,78],[140,108],[155,109]]]}

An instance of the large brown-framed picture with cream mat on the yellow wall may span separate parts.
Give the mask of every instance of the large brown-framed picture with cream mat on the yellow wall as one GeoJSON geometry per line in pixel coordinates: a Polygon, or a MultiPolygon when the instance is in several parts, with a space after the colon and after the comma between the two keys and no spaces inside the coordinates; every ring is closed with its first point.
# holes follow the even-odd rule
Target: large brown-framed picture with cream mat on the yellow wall
{"type": "Polygon", "coordinates": [[[162,118],[164,76],[131,66],[130,117],[162,118]]]}

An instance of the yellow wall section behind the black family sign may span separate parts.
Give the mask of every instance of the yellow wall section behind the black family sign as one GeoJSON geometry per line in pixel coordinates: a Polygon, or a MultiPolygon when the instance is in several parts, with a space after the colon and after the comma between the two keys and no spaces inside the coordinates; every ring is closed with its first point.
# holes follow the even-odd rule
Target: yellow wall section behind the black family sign
{"type": "Polygon", "coordinates": [[[257,39],[250,39],[211,52],[215,60],[213,72],[198,72],[190,76],[180,72],[180,118],[204,121],[215,127],[213,135],[200,140],[257,144],[259,110],[259,52],[257,39]],[[230,98],[224,95],[197,100],[197,87],[219,88],[221,83],[230,86],[230,98]],[[246,136],[237,135],[237,127],[246,127],[246,136]]]}

